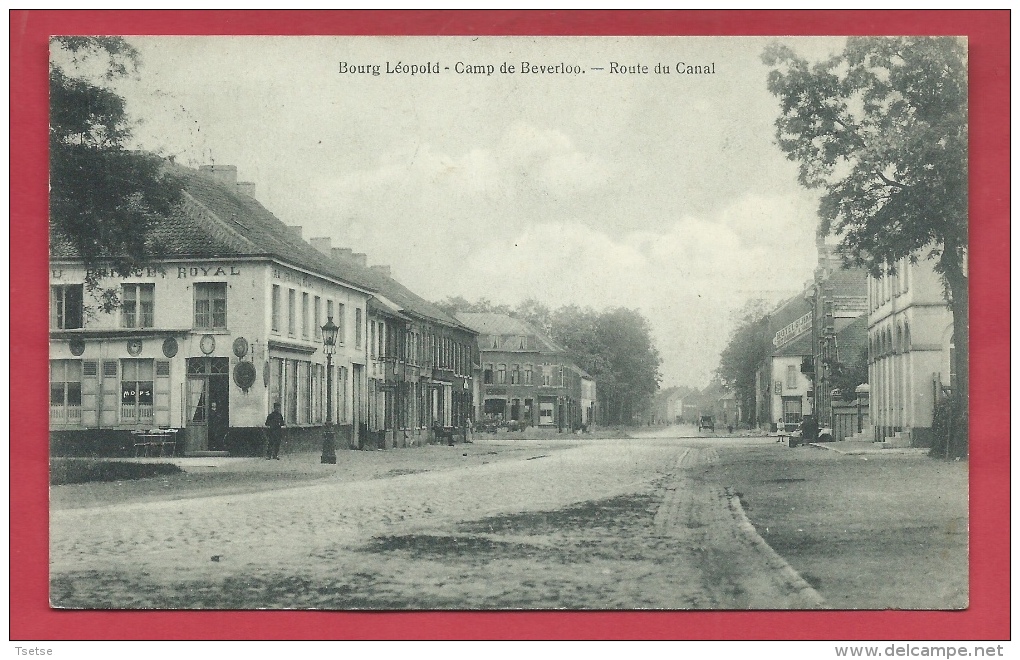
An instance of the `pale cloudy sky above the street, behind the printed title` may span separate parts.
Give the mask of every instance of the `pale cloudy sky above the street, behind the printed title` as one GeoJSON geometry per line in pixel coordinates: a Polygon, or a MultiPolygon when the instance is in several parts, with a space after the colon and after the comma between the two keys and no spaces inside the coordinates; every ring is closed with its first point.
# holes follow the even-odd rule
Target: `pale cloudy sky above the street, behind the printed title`
{"type": "Polygon", "coordinates": [[[817,193],[774,144],[771,38],[129,41],[136,146],[236,165],[306,239],[429,300],[638,309],[663,388],[706,386],[737,310],[796,295],[816,262],[817,193]]]}

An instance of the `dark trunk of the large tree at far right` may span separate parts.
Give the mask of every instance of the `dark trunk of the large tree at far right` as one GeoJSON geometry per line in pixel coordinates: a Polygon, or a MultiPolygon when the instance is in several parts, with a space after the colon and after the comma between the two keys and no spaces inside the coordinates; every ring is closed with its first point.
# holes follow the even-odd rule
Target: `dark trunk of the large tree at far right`
{"type": "Polygon", "coordinates": [[[950,456],[966,456],[969,449],[970,419],[970,291],[969,277],[963,269],[962,250],[956,246],[946,246],[941,257],[942,274],[946,278],[950,309],[953,312],[953,345],[956,380],[953,398],[958,403],[950,437],[950,456]]]}

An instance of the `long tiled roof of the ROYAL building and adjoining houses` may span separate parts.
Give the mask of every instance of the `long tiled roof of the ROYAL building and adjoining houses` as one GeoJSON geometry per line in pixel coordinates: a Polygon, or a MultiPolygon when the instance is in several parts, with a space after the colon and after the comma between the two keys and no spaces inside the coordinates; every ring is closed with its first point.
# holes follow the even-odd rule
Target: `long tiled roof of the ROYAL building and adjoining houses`
{"type": "MultiPolygon", "coordinates": [[[[164,258],[273,258],[378,293],[402,312],[464,328],[396,280],[353,260],[319,252],[254,198],[195,169],[166,166],[181,177],[185,203],[153,226],[149,238],[152,253],[164,258]]],[[[59,236],[51,236],[50,256],[80,258],[71,244],[59,236]]]]}

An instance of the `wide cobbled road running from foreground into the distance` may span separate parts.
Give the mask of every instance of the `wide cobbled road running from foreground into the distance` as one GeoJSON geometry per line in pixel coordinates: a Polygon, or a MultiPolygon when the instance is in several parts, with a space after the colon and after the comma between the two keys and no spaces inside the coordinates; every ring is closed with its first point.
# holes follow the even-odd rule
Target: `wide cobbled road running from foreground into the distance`
{"type": "MultiPolygon", "coordinates": [[[[85,608],[823,606],[725,488],[705,478],[718,442],[480,439],[379,452],[404,465],[382,474],[325,471],[271,490],[259,488],[262,462],[249,459],[251,484],[240,489],[249,492],[65,502],[51,515],[51,600],[85,608]],[[441,451],[446,459],[429,459],[441,451]],[[465,461],[450,460],[454,452],[465,461]]],[[[54,502],[67,488],[54,489],[54,502]]]]}

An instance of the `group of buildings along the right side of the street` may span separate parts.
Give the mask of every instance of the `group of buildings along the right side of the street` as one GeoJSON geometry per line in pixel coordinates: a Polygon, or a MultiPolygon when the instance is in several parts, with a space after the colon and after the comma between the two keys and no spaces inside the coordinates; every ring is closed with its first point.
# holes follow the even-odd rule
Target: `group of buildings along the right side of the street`
{"type": "Polygon", "coordinates": [[[812,281],[769,315],[772,351],[758,369],[752,421],[792,429],[815,415],[833,440],[929,446],[936,402],[954,379],[953,317],[931,262],[904,259],[874,277],[817,247],[812,281]],[[855,375],[866,383],[846,391],[855,375]]]}

